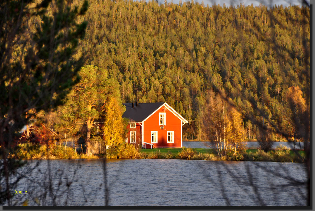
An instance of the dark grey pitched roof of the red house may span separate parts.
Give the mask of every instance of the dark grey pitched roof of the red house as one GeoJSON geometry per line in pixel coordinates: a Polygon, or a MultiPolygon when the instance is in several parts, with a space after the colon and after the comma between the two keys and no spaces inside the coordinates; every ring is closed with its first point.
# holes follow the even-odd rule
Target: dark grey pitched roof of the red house
{"type": "Polygon", "coordinates": [[[123,105],[126,106],[123,117],[131,119],[134,122],[142,122],[163,104],[164,103],[138,103],[138,106],[136,106],[134,103],[133,108],[132,103],[123,103],[123,105]]]}

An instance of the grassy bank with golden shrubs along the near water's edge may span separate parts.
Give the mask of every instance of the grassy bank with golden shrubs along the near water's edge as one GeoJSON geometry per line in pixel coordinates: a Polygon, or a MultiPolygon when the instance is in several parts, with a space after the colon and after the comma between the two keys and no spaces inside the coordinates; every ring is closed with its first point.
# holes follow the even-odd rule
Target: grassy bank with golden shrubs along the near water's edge
{"type": "Polygon", "coordinates": [[[124,144],[118,149],[108,150],[107,154],[99,154],[87,157],[78,154],[73,148],[60,145],[39,145],[24,143],[19,144],[9,157],[15,159],[78,159],[78,158],[123,158],[123,159],[187,159],[187,160],[212,160],[212,161],[271,161],[271,162],[304,162],[305,152],[298,151],[302,159],[295,155],[294,151],[287,148],[270,150],[267,153],[258,149],[247,149],[237,155],[227,154],[218,156],[215,149],[192,148],[159,148],[140,149],[137,151],[133,145],[124,144]]]}

